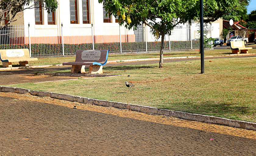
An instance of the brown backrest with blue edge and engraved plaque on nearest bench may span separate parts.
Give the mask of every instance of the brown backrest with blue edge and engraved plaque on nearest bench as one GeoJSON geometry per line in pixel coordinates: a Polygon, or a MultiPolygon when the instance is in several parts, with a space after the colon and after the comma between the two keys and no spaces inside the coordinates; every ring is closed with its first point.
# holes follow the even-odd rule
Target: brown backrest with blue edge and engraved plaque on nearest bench
{"type": "Polygon", "coordinates": [[[75,62],[98,62],[105,63],[108,59],[109,50],[77,50],[75,62]]]}

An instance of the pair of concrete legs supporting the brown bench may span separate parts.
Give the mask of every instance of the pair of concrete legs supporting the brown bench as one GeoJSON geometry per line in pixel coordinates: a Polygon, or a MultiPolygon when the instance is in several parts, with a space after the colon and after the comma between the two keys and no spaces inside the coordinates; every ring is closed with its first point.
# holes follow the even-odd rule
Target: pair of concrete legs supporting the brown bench
{"type": "MultiPolygon", "coordinates": [[[[86,73],[85,65],[72,65],[70,73],[86,73]]],[[[103,66],[90,65],[88,74],[103,74],[103,66]]]]}

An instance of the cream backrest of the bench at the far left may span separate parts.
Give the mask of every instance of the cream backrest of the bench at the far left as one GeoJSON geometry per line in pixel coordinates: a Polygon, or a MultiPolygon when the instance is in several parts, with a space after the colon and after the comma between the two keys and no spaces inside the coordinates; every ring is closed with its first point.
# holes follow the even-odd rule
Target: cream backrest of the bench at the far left
{"type": "Polygon", "coordinates": [[[0,50],[2,62],[19,62],[20,60],[30,59],[28,49],[4,49],[0,50]]]}

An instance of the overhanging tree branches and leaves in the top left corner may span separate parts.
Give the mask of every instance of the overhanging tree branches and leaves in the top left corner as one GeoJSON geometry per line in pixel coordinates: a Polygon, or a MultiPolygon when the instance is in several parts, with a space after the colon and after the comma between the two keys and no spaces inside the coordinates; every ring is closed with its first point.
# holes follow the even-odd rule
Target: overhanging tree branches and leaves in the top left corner
{"type": "Polygon", "coordinates": [[[9,22],[6,23],[5,26],[0,26],[0,29],[7,27],[11,22],[14,22],[14,18],[18,12],[37,7],[35,2],[41,3],[41,7],[46,9],[47,12],[55,12],[58,8],[56,0],[0,0],[0,22],[12,15],[9,22]]]}

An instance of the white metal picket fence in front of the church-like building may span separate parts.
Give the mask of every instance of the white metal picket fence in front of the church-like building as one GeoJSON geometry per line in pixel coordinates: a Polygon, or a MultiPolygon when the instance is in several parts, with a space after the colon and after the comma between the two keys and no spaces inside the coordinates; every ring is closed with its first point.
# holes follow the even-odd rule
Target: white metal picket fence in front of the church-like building
{"type": "MultiPolygon", "coordinates": [[[[211,36],[211,27],[205,26],[211,36]]],[[[199,48],[199,26],[177,26],[165,35],[164,50],[199,48]]],[[[76,50],[108,49],[110,53],[160,50],[161,38],[155,39],[148,26],[129,30],[119,25],[12,25],[0,30],[1,49],[30,50],[32,57],[73,55],[76,50]]]]}

